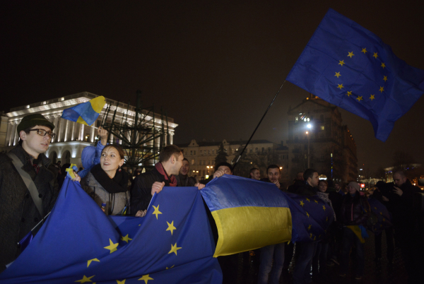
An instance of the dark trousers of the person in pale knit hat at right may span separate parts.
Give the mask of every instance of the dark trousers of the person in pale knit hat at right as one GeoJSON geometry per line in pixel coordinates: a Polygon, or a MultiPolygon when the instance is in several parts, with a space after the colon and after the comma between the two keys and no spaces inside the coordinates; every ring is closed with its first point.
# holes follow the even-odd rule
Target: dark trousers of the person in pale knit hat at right
{"type": "Polygon", "coordinates": [[[355,245],[356,249],[356,271],[355,276],[363,276],[365,268],[365,255],[364,255],[364,244],[360,242],[360,239],[356,237],[355,233],[348,227],[343,228],[343,242],[341,244],[341,273],[348,273],[349,268],[349,252],[351,247],[355,245]]]}

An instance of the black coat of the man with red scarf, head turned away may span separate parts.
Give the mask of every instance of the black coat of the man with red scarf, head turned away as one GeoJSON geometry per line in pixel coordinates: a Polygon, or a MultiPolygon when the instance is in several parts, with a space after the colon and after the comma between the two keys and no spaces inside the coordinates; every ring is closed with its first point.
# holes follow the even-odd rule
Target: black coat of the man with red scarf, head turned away
{"type": "Polygon", "coordinates": [[[170,182],[160,174],[156,168],[149,172],[139,174],[131,188],[131,215],[136,215],[139,210],[146,210],[152,199],[152,185],[154,182],[165,182],[165,187],[170,186],[170,182]]]}

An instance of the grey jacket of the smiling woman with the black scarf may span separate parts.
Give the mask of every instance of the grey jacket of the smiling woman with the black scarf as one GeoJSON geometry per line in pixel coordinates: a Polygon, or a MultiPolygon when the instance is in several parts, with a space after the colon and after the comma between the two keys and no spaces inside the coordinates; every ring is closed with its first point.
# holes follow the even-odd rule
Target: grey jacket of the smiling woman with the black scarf
{"type": "Polygon", "coordinates": [[[129,205],[129,191],[110,194],[95,179],[91,172],[81,179],[81,187],[94,199],[99,207],[106,203],[106,215],[119,215],[129,205]]]}

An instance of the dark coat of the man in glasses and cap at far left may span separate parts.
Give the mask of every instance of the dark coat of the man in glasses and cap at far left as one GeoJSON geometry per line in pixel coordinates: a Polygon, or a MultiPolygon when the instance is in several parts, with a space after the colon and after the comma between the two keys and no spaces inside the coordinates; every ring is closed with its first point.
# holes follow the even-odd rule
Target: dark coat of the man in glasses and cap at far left
{"type": "MultiPolygon", "coordinates": [[[[11,153],[23,162],[23,170],[30,174],[37,191],[42,196],[44,213],[49,213],[59,194],[57,168],[45,155],[40,154],[38,160],[42,161],[42,167],[37,174],[30,162],[30,155],[21,146],[13,148],[11,153]]],[[[13,166],[11,158],[6,154],[0,154],[0,272],[6,268],[6,264],[19,256],[20,248],[17,244],[20,239],[44,217],[35,207],[30,191],[13,166]]],[[[40,227],[33,231],[34,235],[40,227]]]]}

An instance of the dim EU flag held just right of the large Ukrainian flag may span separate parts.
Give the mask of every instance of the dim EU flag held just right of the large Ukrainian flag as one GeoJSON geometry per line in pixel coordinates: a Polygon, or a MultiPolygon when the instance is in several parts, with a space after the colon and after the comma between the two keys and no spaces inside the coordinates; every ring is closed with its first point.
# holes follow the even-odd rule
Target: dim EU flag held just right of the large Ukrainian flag
{"type": "Polygon", "coordinates": [[[292,214],[292,242],[317,242],[324,239],[326,230],[334,220],[333,208],[317,195],[283,194],[287,196],[292,214]]]}

